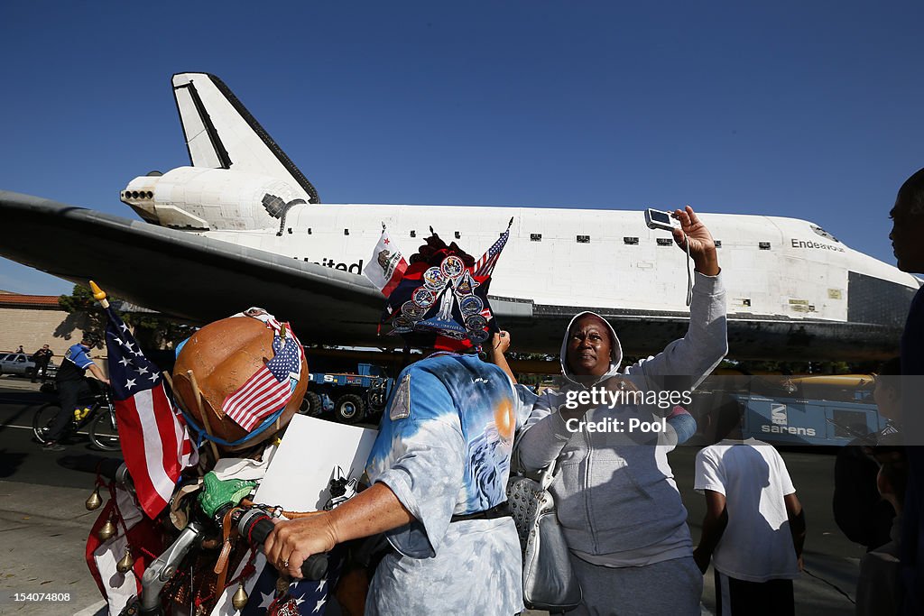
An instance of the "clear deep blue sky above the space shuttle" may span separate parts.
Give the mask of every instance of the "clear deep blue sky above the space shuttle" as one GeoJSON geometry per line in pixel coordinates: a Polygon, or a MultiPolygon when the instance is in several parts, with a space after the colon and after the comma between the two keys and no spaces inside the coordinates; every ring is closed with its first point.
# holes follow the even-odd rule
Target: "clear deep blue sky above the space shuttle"
{"type": "MultiPolygon", "coordinates": [[[[170,77],[206,71],[325,202],[690,203],[891,263],[886,214],[924,166],[921,23],[920,3],[6,2],[0,188],[133,218],[131,178],[188,164],[170,77]]],[[[70,284],[0,260],[0,288],[70,284]]]]}

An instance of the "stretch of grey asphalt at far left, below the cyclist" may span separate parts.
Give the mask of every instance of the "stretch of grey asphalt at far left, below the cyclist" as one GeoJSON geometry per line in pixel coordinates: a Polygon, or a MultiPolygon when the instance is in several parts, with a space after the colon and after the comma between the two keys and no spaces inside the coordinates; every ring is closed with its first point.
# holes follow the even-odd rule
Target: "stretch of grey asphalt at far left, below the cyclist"
{"type": "Polygon", "coordinates": [[[32,416],[54,395],[9,375],[0,377],[0,614],[94,614],[102,606],[84,546],[97,512],[88,512],[94,476],[73,465],[95,456],[86,433],[64,452],[32,439],[32,416]],[[13,593],[67,595],[63,603],[16,600],[13,593]]]}

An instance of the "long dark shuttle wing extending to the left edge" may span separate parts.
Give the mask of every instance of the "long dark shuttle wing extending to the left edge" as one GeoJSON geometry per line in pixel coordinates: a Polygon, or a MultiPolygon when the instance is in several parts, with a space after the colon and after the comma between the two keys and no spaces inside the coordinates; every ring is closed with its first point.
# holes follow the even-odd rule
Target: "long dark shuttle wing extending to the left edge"
{"type": "Polygon", "coordinates": [[[363,276],[13,192],[0,191],[3,256],[205,323],[249,306],[310,342],[370,343],[383,298],[363,276]],[[42,238],[41,242],[37,242],[42,238]]]}

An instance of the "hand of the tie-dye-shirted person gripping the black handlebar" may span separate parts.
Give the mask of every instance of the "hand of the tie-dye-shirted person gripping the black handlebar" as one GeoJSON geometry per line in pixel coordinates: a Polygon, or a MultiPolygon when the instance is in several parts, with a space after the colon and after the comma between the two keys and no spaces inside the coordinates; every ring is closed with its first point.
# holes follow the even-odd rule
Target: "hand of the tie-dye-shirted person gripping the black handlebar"
{"type": "Polygon", "coordinates": [[[266,562],[281,574],[301,579],[301,565],[309,556],[333,550],[338,543],[329,518],[328,513],[318,513],[295,520],[274,520],[276,527],[263,544],[266,562]]]}

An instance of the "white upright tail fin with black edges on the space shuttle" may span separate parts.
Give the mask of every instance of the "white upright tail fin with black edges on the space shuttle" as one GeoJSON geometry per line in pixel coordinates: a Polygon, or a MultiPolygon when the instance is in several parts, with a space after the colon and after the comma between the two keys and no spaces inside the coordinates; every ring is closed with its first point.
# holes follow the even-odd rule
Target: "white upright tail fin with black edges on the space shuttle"
{"type": "Polygon", "coordinates": [[[174,98],[194,167],[271,175],[301,187],[306,200],[318,191],[221,79],[208,73],[177,73],[174,98]]]}

